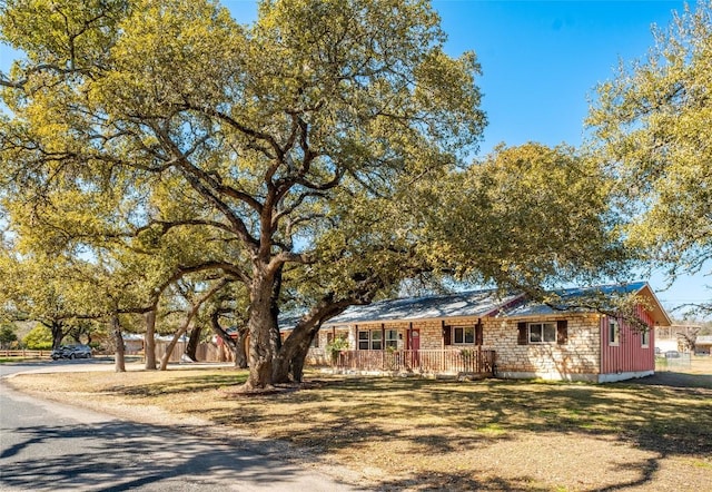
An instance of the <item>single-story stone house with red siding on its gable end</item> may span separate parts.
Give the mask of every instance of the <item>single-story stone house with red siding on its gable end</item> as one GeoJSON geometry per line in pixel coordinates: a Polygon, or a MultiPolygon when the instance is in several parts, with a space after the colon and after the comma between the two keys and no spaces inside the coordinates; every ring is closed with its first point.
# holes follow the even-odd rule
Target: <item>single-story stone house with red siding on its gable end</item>
{"type": "Polygon", "coordinates": [[[333,361],[343,371],[593,382],[654,373],[653,328],[669,326],[671,319],[647,283],[557,294],[566,306],[581,303],[552,307],[523,294],[498,296],[485,289],[352,306],[325,323],[310,360],[324,360],[327,345],[343,338],[348,348],[333,361]],[[635,326],[624,317],[580,307],[592,295],[634,295],[642,323],[635,326]]]}

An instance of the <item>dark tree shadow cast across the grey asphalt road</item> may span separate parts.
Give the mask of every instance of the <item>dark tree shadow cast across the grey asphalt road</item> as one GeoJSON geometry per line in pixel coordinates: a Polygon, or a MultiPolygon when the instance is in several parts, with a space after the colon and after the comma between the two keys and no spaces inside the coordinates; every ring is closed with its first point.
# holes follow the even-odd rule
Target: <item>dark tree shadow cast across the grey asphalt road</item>
{"type": "Polygon", "coordinates": [[[268,444],[215,442],[167,427],[120,421],[33,426],[13,430],[12,434],[13,444],[0,455],[3,490],[120,491],[159,481],[160,490],[169,490],[166,481],[172,482],[171,479],[184,485],[199,482],[225,488],[226,480],[234,480],[228,478],[267,486],[276,475],[289,480],[299,471],[288,463],[276,470],[275,462],[266,459],[268,453],[275,453],[268,444]],[[34,455],[28,452],[29,447],[44,446],[50,441],[61,454],[27,457],[34,455]]]}

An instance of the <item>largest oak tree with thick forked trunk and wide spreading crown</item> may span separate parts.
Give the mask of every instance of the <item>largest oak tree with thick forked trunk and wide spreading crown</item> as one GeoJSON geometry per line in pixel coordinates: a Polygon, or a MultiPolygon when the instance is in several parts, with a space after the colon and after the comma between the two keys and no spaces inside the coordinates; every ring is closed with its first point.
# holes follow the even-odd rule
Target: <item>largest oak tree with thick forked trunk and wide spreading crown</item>
{"type": "Polygon", "coordinates": [[[249,292],[247,387],[285,378],[325,318],[408,273],[387,262],[414,257],[409,224],[369,234],[350,206],[442,176],[484,125],[475,57],[443,52],[424,1],[265,1],[239,26],[200,0],[9,0],[0,28],[26,53],[0,82],[9,193],[41,222],[60,199],[86,217],[88,197],[118,187],[115,230],[88,244],[198,228],[235,245],[224,266],[249,292]],[[157,206],[170,193],[189,214],[157,206]],[[330,233],[349,223],[353,239],[330,233]],[[346,259],[346,281],[319,288],[346,259]],[[280,347],[283,282],[299,277],[313,304],[280,347]]]}

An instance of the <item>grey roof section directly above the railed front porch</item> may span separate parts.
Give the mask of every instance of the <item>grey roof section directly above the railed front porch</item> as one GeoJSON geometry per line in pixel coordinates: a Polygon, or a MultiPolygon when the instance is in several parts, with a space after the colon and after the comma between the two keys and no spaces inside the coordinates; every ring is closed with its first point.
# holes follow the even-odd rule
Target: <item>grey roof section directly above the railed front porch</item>
{"type": "Polygon", "coordinates": [[[497,291],[469,291],[459,294],[380,301],[367,306],[352,306],[326,325],[387,321],[433,319],[459,316],[485,316],[522,297],[497,291]]]}

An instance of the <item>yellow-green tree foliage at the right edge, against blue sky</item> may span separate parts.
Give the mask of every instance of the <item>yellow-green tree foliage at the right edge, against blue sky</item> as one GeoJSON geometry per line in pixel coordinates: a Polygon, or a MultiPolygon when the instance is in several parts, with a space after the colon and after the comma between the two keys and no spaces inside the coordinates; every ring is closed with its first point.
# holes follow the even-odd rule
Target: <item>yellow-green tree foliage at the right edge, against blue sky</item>
{"type": "MultiPolygon", "coordinates": [[[[630,244],[680,274],[712,259],[712,2],[656,29],[647,57],[597,87],[587,122],[617,181],[630,244]]],[[[712,302],[698,307],[712,312],[712,302]]]]}

